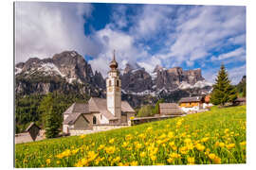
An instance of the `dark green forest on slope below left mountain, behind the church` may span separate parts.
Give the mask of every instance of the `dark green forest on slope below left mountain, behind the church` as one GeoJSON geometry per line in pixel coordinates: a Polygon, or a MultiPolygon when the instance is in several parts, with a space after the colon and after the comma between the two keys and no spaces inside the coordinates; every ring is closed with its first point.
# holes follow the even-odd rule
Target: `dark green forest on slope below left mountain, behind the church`
{"type": "MultiPolygon", "coordinates": [[[[54,99],[54,107],[58,108],[58,115],[62,113],[74,102],[86,102],[89,96],[81,93],[51,93],[54,99]]],[[[43,120],[44,114],[48,110],[48,101],[45,94],[30,94],[26,96],[16,96],[15,99],[15,123],[16,133],[23,132],[31,122],[35,122],[39,127],[45,128],[43,120]]]]}

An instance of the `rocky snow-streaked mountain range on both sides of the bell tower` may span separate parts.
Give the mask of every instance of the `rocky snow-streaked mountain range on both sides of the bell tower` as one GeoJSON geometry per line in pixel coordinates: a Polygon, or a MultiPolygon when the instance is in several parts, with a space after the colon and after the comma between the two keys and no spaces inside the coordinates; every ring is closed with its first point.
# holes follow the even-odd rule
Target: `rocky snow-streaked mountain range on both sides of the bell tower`
{"type": "MultiPolygon", "coordinates": [[[[64,51],[52,58],[30,58],[15,65],[15,92],[18,96],[34,93],[80,93],[105,97],[105,79],[93,73],[91,65],[75,51],[64,51]]],[[[201,69],[166,69],[156,65],[148,73],[137,63],[127,63],[120,74],[122,99],[133,107],[154,104],[157,99],[176,102],[181,97],[210,93],[211,83],[201,69]]]]}

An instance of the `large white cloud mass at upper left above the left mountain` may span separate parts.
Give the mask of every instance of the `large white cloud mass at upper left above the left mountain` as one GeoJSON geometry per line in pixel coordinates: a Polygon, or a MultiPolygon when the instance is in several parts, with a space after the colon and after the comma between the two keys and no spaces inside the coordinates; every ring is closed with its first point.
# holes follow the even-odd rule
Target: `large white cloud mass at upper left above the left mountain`
{"type": "Polygon", "coordinates": [[[89,4],[16,2],[16,62],[64,50],[90,53],[92,44],[82,37],[82,14],[90,16],[92,9],[89,4]]]}

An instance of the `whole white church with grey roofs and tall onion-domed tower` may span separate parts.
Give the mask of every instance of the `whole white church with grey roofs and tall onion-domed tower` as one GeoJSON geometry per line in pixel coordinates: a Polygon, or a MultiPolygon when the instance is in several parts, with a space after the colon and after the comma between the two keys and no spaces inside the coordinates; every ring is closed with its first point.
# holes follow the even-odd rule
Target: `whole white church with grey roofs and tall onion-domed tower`
{"type": "Polygon", "coordinates": [[[119,64],[115,59],[109,63],[106,78],[106,99],[91,97],[87,103],[73,103],[64,111],[63,131],[78,135],[92,130],[107,130],[127,127],[135,110],[127,101],[121,101],[121,80],[119,64]]]}

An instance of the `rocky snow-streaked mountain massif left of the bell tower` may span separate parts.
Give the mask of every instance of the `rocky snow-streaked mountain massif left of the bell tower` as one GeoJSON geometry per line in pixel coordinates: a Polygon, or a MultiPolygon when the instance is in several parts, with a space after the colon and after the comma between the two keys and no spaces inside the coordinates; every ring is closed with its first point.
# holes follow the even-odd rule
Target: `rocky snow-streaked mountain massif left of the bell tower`
{"type": "Polygon", "coordinates": [[[15,65],[15,93],[87,93],[101,96],[105,81],[100,72],[93,74],[90,64],[75,51],[64,51],[52,58],[30,58],[15,65]]]}

